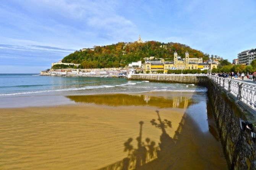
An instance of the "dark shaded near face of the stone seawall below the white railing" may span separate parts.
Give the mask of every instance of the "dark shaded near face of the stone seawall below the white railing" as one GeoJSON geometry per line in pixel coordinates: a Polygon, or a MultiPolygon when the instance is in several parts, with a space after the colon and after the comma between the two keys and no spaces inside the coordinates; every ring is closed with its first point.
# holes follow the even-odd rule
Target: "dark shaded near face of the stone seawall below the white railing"
{"type": "Polygon", "coordinates": [[[230,169],[255,170],[256,145],[251,137],[251,131],[241,130],[239,120],[241,118],[254,122],[253,114],[243,105],[237,104],[232,94],[225,91],[219,84],[209,80],[207,89],[230,169]]]}

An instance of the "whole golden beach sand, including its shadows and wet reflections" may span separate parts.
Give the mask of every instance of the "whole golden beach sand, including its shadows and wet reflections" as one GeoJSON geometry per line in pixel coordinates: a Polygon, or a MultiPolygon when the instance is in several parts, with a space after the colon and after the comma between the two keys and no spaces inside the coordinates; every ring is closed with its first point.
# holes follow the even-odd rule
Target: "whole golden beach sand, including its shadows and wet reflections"
{"type": "Polygon", "coordinates": [[[205,94],[66,98],[77,103],[0,109],[0,169],[129,169],[134,156],[127,167],[227,169],[205,94]],[[143,162],[143,148],[158,151],[143,162]]]}

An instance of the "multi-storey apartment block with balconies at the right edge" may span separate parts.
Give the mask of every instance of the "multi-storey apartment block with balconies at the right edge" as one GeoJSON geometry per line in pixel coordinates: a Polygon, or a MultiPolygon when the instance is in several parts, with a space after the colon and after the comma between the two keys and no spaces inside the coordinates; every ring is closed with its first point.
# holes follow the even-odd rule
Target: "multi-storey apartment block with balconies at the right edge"
{"type": "Polygon", "coordinates": [[[252,60],[256,59],[256,48],[242,51],[237,54],[237,57],[238,57],[237,64],[249,65],[251,64],[252,60]]]}

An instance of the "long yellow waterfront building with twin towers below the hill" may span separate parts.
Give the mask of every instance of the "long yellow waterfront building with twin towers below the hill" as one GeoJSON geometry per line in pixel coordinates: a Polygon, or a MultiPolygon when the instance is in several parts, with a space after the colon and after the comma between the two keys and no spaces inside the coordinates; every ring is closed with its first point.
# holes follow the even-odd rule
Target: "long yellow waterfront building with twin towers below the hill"
{"type": "Polygon", "coordinates": [[[185,69],[201,69],[207,70],[209,68],[217,68],[217,64],[212,61],[206,63],[202,62],[203,59],[192,59],[189,58],[189,53],[185,53],[185,59],[178,56],[178,53],[174,52],[173,62],[164,62],[164,60],[146,60],[144,63],[144,73],[157,73],[158,70],[163,70],[164,74],[168,70],[185,70],[185,69]]]}

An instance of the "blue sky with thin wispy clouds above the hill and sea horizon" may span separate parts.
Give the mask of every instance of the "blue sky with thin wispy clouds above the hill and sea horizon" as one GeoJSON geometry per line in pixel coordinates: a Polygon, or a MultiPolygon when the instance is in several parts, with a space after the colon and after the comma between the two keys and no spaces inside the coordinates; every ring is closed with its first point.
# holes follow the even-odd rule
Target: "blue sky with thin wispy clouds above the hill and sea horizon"
{"type": "Polygon", "coordinates": [[[40,73],[82,48],[178,42],[232,62],[256,48],[256,0],[0,0],[0,73],[40,73]]]}

